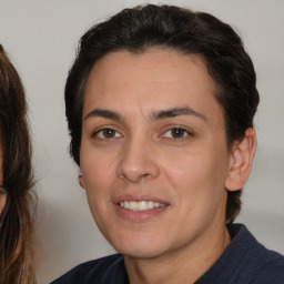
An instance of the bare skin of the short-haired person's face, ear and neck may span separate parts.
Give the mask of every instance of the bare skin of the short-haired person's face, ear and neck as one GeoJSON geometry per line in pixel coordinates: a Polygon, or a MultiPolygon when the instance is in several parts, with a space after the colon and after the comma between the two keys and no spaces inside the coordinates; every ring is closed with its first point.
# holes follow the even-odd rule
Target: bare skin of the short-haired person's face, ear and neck
{"type": "Polygon", "coordinates": [[[230,243],[226,191],[246,181],[255,134],[227,146],[215,91],[200,57],[163,49],[109,53],[90,73],[79,182],[130,283],[193,283],[230,243]],[[122,214],[122,200],[165,206],[122,214]]]}

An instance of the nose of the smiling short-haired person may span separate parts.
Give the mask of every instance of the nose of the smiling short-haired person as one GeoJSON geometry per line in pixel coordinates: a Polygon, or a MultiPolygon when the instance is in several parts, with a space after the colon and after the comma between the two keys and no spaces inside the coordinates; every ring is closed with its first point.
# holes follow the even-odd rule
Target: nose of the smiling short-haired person
{"type": "Polygon", "coordinates": [[[151,142],[146,139],[133,139],[123,145],[118,165],[118,175],[121,179],[136,183],[155,179],[159,173],[151,142]]]}

